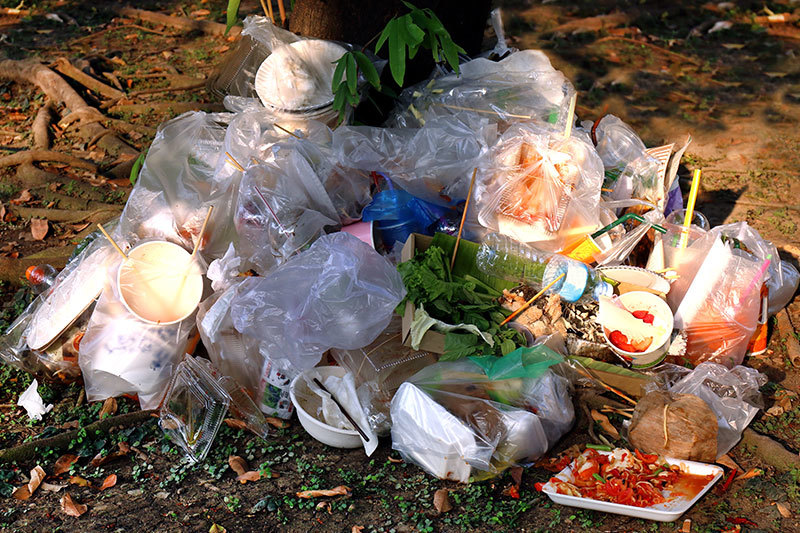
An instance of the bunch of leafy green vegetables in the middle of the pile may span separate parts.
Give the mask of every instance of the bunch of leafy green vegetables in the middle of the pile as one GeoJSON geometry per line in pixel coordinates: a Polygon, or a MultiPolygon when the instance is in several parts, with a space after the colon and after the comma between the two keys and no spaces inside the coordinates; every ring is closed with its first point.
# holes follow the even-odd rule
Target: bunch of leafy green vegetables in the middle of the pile
{"type": "MultiPolygon", "coordinates": [[[[450,256],[432,245],[397,266],[406,286],[406,300],[424,307],[431,318],[447,324],[471,324],[491,336],[493,346],[475,333],[447,332],[442,360],[472,355],[504,355],[524,345],[522,336],[499,324],[508,315],[496,300],[497,291],[472,278],[450,272],[450,256]]],[[[405,305],[403,302],[400,309],[405,305]]]]}

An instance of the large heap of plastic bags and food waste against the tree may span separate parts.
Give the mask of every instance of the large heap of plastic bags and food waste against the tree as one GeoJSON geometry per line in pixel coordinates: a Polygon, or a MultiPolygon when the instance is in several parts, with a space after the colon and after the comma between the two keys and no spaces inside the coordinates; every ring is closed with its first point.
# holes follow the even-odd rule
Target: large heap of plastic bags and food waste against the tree
{"type": "Polygon", "coordinates": [[[243,35],[215,80],[229,111],[160,126],[6,363],[135,395],[192,461],[227,410],[262,438],[296,411],[326,444],[390,436],[468,482],[545,455],[583,386],[638,399],[642,453],[736,443],[765,382],[742,363],[800,276],[747,223],[709,226],[699,173],[684,208],[690,139],[577,121],[569,80],[510,49],[404,90],[383,127],[339,124],[346,45],[263,17],[243,35]]]}

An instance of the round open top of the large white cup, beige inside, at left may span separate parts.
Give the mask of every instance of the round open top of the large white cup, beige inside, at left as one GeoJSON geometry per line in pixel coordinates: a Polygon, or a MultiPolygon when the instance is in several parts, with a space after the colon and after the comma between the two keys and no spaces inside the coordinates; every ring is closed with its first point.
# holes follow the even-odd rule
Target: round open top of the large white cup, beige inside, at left
{"type": "Polygon", "coordinates": [[[203,276],[191,262],[191,254],[167,241],[148,241],[132,248],[117,271],[117,286],[128,311],[149,324],[180,322],[203,297],[203,276]]]}

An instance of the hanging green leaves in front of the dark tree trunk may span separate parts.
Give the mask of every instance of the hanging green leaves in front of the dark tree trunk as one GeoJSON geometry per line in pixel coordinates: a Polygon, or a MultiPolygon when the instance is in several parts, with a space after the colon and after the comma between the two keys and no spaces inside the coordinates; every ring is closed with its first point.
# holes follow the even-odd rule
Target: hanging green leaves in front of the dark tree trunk
{"type": "MultiPolygon", "coordinates": [[[[444,59],[458,74],[458,54],[466,52],[453,42],[439,17],[429,8],[419,9],[409,2],[403,4],[410,12],[395,16],[387,22],[375,44],[375,53],[378,53],[383,45],[388,43],[389,71],[397,85],[403,86],[406,59],[414,59],[420,48],[430,50],[436,63],[444,59]]],[[[333,109],[339,112],[340,120],[344,118],[347,104],[354,106],[358,103],[359,72],[363,73],[370,85],[381,90],[378,71],[369,58],[363,52],[345,53],[336,61],[336,70],[331,80],[331,90],[334,94],[333,109]]]]}

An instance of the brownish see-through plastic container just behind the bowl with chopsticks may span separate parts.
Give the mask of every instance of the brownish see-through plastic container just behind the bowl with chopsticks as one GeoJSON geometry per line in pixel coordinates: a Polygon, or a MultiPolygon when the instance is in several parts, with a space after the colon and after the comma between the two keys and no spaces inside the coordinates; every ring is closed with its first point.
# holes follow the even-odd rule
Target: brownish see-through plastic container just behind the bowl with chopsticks
{"type": "Polygon", "coordinates": [[[435,354],[403,344],[402,319],[398,315],[370,344],[355,350],[334,348],[331,355],[353,374],[369,425],[381,436],[388,435],[391,429],[389,408],[394,393],[408,378],[438,360],[435,354]]]}

